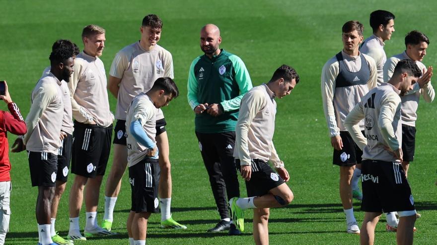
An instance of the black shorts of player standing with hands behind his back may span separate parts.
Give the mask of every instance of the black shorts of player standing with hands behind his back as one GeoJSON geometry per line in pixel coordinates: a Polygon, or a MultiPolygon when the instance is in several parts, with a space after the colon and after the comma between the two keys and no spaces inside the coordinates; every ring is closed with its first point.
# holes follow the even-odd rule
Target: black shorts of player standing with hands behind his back
{"type": "Polygon", "coordinates": [[[50,152],[27,153],[32,186],[56,187],[58,156],[50,152]]]}

